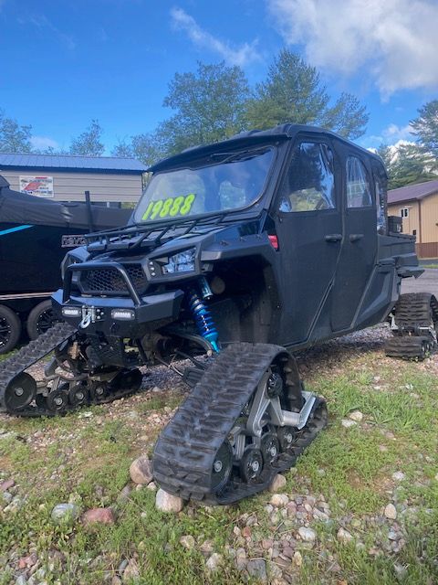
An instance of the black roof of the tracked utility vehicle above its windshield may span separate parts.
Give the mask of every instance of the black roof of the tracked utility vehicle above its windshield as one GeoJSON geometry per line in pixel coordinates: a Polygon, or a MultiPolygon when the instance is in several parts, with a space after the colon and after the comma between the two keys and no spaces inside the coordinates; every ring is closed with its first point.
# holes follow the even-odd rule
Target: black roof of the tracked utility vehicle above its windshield
{"type": "Polygon", "coordinates": [[[187,148],[180,154],[175,154],[169,158],[165,158],[162,161],[157,162],[155,165],[152,165],[149,170],[152,172],[161,171],[172,165],[180,165],[192,158],[208,156],[209,154],[224,149],[231,150],[245,146],[251,147],[254,144],[272,144],[274,141],[290,140],[291,138],[295,138],[298,132],[318,134],[323,133],[328,136],[336,137],[341,143],[349,145],[356,151],[359,150],[362,154],[365,154],[369,158],[373,158],[382,164],[381,157],[378,154],[371,153],[369,150],[362,148],[359,144],[352,143],[343,136],[339,136],[337,133],[331,132],[324,128],[318,128],[317,126],[285,123],[280,124],[275,128],[270,128],[269,130],[250,130],[249,132],[235,134],[235,136],[231,136],[230,138],[227,138],[226,140],[218,143],[203,144],[187,148]]]}

